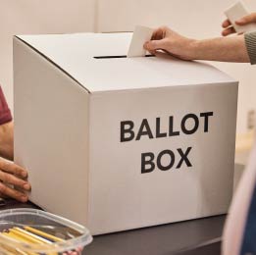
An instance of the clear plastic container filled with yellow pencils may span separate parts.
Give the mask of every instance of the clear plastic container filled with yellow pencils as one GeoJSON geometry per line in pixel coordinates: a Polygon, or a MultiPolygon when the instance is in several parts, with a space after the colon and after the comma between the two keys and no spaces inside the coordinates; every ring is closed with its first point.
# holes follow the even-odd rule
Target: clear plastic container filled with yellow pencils
{"type": "Polygon", "coordinates": [[[82,248],[91,241],[92,236],[88,229],[50,213],[26,208],[0,212],[0,254],[60,254],[69,251],[80,254],[82,248]],[[19,235],[21,232],[16,235],[17,230],[23,234],[23,231],[27,233],[27,229],[32,230],[29,232],[31,236],[35,234],[42,237],[43,243],[36,240],[35,242],[41,243],[31,242],[29,238],[30,243],[27,243],[23,235],[23,238],[19,235]],[[42,233],[46,233],[47,237],[41,235],[42,233]],[[56,240],[52,239],[53,236],[56,240]]]}

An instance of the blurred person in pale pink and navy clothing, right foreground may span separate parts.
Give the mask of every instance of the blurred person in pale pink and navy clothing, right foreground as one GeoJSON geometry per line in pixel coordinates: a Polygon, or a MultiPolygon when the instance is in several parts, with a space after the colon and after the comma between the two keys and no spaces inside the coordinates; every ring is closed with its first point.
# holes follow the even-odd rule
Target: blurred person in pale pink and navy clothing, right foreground
{"type": "Polygon", "coordinates": [[[223,255],[256,254],[256,143],[233,198],[223,255]]]}

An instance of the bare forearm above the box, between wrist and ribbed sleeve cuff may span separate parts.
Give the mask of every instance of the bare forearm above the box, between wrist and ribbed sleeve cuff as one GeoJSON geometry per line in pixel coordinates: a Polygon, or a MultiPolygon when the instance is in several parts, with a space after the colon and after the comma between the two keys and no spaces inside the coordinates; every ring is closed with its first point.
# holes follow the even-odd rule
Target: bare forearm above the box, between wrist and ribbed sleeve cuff
{"type": "Polygon", "coordinates": [[[195,60],[250,62],[244,35],[195,40],[191,46],[191,56],[195,60]]]}

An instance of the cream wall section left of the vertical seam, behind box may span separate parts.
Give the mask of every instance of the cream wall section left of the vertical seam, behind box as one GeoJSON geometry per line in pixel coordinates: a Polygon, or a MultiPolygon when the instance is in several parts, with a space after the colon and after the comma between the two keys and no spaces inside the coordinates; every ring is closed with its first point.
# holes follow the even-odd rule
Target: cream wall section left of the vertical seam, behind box
{"type": "Polygon", "coordinates": [[[94,29],[94,0],[0,0],[0,84],[13,109],[12,37],[94,29]]]}

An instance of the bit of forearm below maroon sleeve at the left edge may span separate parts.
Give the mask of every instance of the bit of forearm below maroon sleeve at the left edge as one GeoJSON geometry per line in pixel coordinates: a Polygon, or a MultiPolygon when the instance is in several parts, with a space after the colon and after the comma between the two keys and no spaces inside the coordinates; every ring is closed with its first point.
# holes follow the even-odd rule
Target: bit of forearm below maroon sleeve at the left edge
{"type": "Polygon", "coordinates": [[[14,124],[13,122],[0,126],[0,157],[14,158],[14,124]]]}

